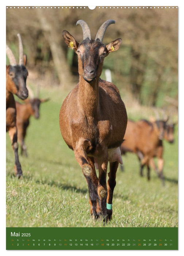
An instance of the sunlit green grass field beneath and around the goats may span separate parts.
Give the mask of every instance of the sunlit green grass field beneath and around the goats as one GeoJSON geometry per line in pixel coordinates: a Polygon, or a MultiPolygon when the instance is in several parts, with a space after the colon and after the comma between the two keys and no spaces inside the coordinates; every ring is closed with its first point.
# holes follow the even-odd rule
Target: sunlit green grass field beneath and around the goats
{"type": "MultiPolygon", "coordinates": [[[[66,96],[60,89],[42,91],[50,101],[41,105],[39,120],[31,117],[26,145],[20,156],[23,178],[14,177],[14,153],[7,133],[7,227],[102,227],[90,215],[87,182],[59,127],[59,112],[66,96]]],[[[129,109],[127,109],[129,115],[129,109]]],[[[137,117],[137,116],[136,116],[137,117]]],[[[140,116],[142,118],[143,116],[140,116]]],[[[175,143],[164,143],[165,186],[151,171],[151,180],[139,176],[133,154],[123,157],[124,172],[117,172],[113,219],[109,227],[178,226],[178,131],[175,143]]]]}

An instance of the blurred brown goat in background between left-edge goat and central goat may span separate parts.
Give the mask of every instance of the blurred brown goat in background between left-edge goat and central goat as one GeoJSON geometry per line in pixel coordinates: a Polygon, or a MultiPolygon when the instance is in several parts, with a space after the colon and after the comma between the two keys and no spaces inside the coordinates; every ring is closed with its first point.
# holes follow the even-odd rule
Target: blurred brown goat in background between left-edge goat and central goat
{"type": "Polygon", "coordinates": [[[27,157],[26,145],[24,139],[28,125],[30,124],[30,117],[34,116],[39,118],[39,107],[42,102],[46,102],[49,99],[30,98],[26,99],[24,103],[16,103],[16,126],[18,131],[18,142],[21,146],[21,155],[24,153],[27,157]]]}

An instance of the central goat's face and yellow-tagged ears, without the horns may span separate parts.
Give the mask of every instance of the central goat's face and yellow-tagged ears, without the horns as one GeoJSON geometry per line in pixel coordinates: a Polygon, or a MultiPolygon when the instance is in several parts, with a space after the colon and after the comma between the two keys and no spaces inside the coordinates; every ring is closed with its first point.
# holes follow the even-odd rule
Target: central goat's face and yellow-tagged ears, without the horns
{"type": "Polygon", "coordinates": [[[103,68],[104,58],[119,49],[122,39],[118,38],[108,45],[100,40],[92,40],[88,37],[80,44],[66,30],[62,32],[65,43],[75,50],[78,55],[78,72],[88,83],[99,78],[103,68]]]}

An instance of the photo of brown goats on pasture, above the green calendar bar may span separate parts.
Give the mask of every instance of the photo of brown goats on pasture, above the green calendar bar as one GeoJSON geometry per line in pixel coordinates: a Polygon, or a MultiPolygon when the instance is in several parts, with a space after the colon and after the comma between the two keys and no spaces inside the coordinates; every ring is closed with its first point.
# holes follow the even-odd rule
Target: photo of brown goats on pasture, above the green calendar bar
{"type": "Polygon", "coordinates": [[[7,7],[7,227],[178,227],[177,15],[7,7]]]}

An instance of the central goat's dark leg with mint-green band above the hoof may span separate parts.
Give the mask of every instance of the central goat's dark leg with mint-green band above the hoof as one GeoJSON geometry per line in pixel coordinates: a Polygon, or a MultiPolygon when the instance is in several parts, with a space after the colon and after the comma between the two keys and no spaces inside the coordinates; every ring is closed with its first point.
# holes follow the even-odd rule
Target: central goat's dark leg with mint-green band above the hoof
{"type": "Polygon", "coordinates": [[[112,219],[112,197],[116,185],[116,172],[118,169],[118,162],[110,162],[110,172],[108,173],[107,181],[107,214],[108,218],[112,219]]]}

